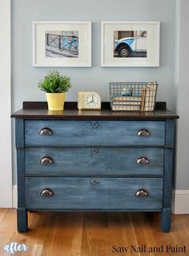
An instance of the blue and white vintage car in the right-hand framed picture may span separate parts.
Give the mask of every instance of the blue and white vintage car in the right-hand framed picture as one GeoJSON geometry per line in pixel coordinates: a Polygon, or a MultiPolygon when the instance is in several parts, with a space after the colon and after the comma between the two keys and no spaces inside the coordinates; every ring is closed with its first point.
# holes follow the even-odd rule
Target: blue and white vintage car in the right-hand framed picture
{"type": "Polygon", "coordinates": [[[119,40],[115,40],[115,53],[118,53],[119,57],[128,56],[147,56],[147,31],[143,31],[136,37],[125,37],[119,40]]]}

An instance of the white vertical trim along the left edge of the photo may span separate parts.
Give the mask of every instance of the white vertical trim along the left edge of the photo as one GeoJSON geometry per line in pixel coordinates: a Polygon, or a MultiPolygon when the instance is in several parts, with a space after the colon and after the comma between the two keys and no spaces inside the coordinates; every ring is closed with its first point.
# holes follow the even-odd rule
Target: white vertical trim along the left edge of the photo
{"type": "Polygon", "coordinates": [[[12,207],[10,0],[0,1],[0,208],[12,207]]]}

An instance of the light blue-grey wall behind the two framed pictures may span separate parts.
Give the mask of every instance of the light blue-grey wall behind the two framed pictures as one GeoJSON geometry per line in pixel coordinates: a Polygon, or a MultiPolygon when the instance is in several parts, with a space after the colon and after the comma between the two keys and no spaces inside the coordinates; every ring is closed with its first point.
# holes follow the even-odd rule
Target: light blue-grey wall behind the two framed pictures
{"type": "MultiPolygon", "coordinates": [[[[52,68],[32,67],[32,21],[91,21],[92,67],[57,68],[71,77],[67,101],[81,90],[95,90],[109,100],[110,81],[158,81],[158,101],[174,109],[175,0],[14,0],[12,1],[12,110],[22,101],[46,101],[38,78],[52,68]],[[160,21],[159,68],[100,67],[100,22],[119,20],[160,21]]],[[[15,183],[15,171],[14,171],[15,183]]]]}

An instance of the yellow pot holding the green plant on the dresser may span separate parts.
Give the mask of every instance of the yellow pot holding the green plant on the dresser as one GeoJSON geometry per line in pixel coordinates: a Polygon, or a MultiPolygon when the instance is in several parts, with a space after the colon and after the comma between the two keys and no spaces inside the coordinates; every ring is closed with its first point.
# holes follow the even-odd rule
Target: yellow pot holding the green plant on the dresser
{"type": "Polygon", "coordinates": [[[46,93],[49,110],[63,110],[66,93],[46,93]]]}

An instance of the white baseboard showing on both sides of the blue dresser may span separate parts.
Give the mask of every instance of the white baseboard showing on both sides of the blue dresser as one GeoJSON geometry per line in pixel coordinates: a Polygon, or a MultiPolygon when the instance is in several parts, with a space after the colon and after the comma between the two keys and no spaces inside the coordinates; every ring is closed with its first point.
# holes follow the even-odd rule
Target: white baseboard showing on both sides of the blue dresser
{"type": "MultiPolygon", "coordinates": [[[[13,208],[17,208],[17,185],[13,185],[13,208]]],[[[189,190],[173,191],[172,213],[189,214],[189,190]]]]}

